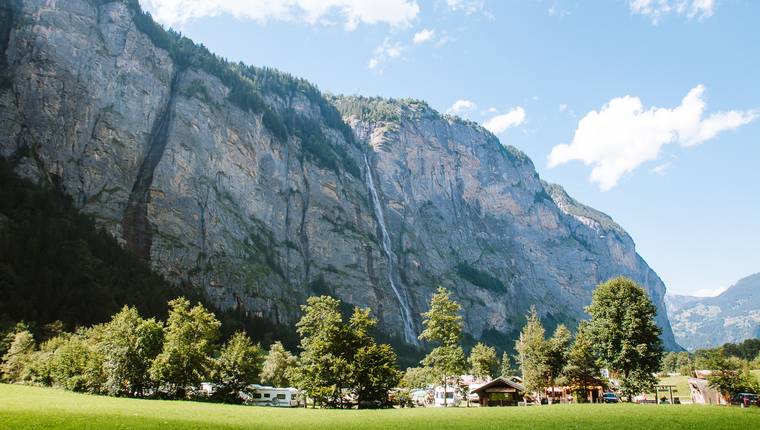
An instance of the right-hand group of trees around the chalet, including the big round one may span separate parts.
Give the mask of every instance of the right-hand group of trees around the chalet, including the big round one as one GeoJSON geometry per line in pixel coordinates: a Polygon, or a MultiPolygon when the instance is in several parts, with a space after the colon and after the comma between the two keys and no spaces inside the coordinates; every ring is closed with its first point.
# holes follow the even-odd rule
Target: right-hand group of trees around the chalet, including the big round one
{"type": "Polygon", "coordinates": [[[476,344],[465,359],[460,309],[445,290],[436,293],[430,311],[423,314],[426,329],[420,339],[437,346],[422,367],[407,369],[402,385],[445,385],[468,370],[482,379],[518,373],[539,402],[542,393],[556,385],[570,386],[576,400],[583,402],[594,387],[607,387],[602,368],[609,369],[629,399],[657,383],[663,348],[654,319],[656,308],[646,291],[630,279],[615,278],[596,288],[586,308],[591,318],[580,322],[575,335],[560,324],[547,338],[538,312],[531,308],[515,343],[517,369],[507,353],[499,362],[496,349],[483,343],[476,344]]]}

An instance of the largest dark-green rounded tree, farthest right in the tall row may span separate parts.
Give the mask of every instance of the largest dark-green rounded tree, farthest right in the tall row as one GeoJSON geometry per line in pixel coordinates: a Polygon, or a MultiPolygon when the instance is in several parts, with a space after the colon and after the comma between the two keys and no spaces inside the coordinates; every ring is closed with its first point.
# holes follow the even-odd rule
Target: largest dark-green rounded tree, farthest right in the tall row
{"type": "Polygon", "coordinates": [[[657,309],[647,292],[625,277],[597,286],[591,305],[589,338],[604,365],[619,378],[628,397],[651,391],[662,361],[657,309]]]}

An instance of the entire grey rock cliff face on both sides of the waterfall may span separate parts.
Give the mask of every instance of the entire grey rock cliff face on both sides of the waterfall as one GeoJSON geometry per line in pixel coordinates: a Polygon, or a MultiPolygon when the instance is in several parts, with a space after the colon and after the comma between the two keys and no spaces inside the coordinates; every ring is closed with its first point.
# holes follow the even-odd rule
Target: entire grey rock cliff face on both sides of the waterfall
{"type": "Polygon", "coordinates": [[[332,294],[414,342],[443,285],[467,333],[509,347],[530,305],[572,323],[622,274],[650,292],[676,347],[665,287],[625,231],[476,124],[420,102],[331,98],[354,138],[308,84],[235,69],[233,85],[218,64],[160,48],[125,2],[1,11],[0,153],[222,307],[292,324],[306,297],[332,294]]]}

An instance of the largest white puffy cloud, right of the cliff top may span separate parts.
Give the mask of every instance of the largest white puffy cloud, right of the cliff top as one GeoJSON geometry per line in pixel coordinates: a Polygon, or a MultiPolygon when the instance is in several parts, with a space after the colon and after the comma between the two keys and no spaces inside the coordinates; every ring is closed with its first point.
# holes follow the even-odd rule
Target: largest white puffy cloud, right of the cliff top
{"type": "Polygon", "coordinates": [[[591,182],[609,190],[624,174],[646,161],[656,160],[664,145],[698,145],[722,131],[748,124],[760,113],[732,110],[703,118],[704,91],[702,85],[694,87],[672,109],[644,109],[638,97],[614,98],[578,122],[571,144],[552,148],[549,167],[583,161],[592,166],[591,182]]]}

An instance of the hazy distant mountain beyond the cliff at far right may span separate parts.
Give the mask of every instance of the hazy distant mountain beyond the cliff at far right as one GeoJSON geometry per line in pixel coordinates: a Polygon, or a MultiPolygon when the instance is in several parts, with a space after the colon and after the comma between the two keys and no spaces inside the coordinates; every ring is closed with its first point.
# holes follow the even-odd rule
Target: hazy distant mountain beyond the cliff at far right
{"type": "Polygon", "coordinates": [[[665,304],[676,341],[688,350],[760,337],[760,273],[716,297],[668,295],[665,304]]]}

